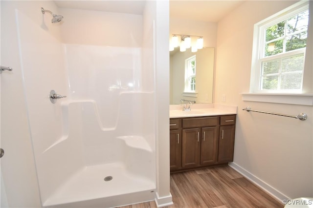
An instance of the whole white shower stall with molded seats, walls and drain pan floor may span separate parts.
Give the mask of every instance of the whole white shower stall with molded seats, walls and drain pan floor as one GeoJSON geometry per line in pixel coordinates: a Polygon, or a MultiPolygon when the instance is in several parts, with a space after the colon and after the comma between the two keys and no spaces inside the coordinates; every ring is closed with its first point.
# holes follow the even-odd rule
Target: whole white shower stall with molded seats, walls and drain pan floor
{"type": "Polygon", "coordinates": [[[52,12],[64,19],[51,25],[52,16],[42,14],[37,2],[38,17],[19,9],[15,17],[42,206],[117,207],[154,200],[151,6],[143,4],[142,14],[58,8],[52,12]],[[67,97],[53,104],[51,90],[67,97]]]}

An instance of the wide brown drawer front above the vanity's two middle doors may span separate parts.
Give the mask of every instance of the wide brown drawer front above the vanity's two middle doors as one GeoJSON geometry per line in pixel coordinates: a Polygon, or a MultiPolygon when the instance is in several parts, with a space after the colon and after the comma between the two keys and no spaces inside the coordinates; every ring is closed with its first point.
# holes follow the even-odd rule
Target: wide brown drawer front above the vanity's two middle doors
{"type": "Polygon", "coordinates": [[[215,125],[219,125],[218,117],[182,119],[183,128],[194,128],[194,127],[215,126],[215,125]]]}

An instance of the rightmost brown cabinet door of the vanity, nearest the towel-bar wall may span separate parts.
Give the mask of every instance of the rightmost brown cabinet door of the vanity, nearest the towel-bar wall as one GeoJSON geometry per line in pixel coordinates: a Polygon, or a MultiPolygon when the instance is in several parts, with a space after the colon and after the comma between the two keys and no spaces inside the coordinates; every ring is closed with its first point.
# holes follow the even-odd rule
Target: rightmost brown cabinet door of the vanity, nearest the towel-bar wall
{"type": "Polygon", "coordinates": [[[220,126],[219,163],[233,161],[235,126],[220,126]]]}

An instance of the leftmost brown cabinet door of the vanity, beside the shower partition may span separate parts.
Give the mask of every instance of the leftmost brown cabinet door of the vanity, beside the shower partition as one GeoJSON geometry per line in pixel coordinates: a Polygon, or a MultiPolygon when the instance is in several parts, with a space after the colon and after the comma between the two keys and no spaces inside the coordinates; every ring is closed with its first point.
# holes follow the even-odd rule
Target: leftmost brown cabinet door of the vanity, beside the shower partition
{"type": "Polygon", "coordinates": [[[181,133],[180,130],[170,130],[170,169],[181,167],[181,133]]]}

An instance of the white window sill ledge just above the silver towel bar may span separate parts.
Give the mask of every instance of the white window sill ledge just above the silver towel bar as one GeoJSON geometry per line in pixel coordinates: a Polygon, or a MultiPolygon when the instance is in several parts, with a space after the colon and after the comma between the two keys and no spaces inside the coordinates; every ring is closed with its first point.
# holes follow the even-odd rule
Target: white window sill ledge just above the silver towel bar
{"type": "Polygon", "coordinates": [[[313,94],[263,94],[263,93],[243,93],[243,101],[279,103],[279,104],[299,104],[313,105],[313,94]]]}

